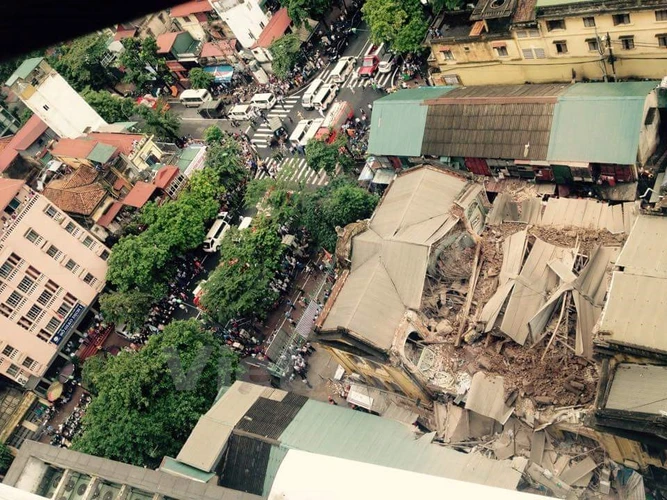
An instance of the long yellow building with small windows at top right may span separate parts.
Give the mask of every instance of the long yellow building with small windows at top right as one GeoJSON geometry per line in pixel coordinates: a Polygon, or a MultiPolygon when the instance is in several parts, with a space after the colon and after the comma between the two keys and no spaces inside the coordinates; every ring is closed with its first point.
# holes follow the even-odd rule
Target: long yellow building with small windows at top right
{"type": "Polygon", "coordinates": [[[667,75],[667,4],[657,0],[480,0],[442,13],[426,40],[438,85],[667,75]]]}

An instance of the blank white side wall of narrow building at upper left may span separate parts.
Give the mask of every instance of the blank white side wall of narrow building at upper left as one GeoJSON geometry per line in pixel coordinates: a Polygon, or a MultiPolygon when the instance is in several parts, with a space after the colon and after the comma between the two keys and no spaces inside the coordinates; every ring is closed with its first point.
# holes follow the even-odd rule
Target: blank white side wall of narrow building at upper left
{"type": "Polygon", "coordinates": [[[107,124],[56,72],[46,77],[24,102],[60,137],[74,139],[83,135],[88,127],[97,130],[107,124]]]}

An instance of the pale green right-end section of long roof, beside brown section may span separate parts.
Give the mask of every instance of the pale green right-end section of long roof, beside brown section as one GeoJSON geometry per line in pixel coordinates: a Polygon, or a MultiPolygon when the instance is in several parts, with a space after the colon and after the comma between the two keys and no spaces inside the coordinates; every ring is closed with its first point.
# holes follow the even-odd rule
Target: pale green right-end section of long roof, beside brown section
{"type": "Polygon", "coordinates": [[[547,161],[632,165],[647,95],[658,82],[577,83],[554,108],[547,161]]]}

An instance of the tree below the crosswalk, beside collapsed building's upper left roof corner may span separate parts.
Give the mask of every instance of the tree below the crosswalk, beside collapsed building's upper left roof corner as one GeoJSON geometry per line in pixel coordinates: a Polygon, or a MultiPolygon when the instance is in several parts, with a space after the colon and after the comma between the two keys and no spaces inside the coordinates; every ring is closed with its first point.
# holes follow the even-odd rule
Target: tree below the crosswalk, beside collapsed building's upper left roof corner
{"type": "Polygon", "coordinates": [[[301,195],[299,222],[311,233],[316,245],[333,252],[336,227],[370,217],[378,201],[378,196],[346,178],[337,178],[323,189],[301,195]]]}

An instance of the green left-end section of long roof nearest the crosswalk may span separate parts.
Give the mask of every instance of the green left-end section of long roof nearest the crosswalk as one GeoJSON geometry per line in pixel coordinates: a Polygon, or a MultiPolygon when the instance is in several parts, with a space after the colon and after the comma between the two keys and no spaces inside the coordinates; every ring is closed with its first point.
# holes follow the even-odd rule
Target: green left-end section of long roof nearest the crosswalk
{"type": "Polygon", "coordinates": [[[421,103],[440,97],[455,87],[422,87],[399,90],[373,103],[368,153],[420,156],[428,106],[421,103]]]}

